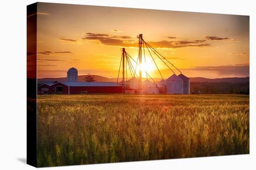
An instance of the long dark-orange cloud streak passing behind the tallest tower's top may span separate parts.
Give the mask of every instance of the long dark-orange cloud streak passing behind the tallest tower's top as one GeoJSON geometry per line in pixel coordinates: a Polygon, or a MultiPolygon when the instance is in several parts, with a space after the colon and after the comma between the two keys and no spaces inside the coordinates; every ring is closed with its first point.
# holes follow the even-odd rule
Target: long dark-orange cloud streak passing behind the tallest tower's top
{"type": "MultiPolygon", "coordinates": [[[[110,36],[108,34],[98,34],[98,33],[86,33],[86,37],[82,38],[84,40],[96,40],[104,45],[112,45],[119,47],[133,47],[137,48],[138,44],[134,40],[122,40],[118,38],[132,38],[130,36],[110,36]],[[98,36],[95,36],[98,35],[98,36]]],[[[170,49],[170,48],[184,48],[184,47],[207,47],[210,44],[202,44],[204,40],[195,41],[151,41],[148,42],[154,48],[170,49]]]]}

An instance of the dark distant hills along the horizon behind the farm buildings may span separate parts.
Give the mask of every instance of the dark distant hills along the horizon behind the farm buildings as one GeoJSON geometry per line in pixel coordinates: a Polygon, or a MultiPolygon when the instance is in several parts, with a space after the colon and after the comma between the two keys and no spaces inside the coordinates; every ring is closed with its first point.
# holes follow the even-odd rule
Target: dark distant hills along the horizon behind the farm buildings
{"type": "MultiPolygon", "coordinates": [[[[84,76],[78,76],[79,82],[84,82],[84,76]]],[[[92,75],[94,76],[94,79],[96,82],[116,82],[117,78],[108,78],[98,75],[92,75]]],[[[215,78],[215,79],[209,79],[204,77],[189,77],[190,82],[249,82],[249,77],[228,77],[228,78],[215,78]]],[[[128,78],[130,79],[130,78],[128,78]]],[[[119,78],[121,81],[121,78],[119,78]]],[[[142,78],[142,81],[144,81],[145,78],[142,78]]],[[[150,80],[150,79],[149,79],[150,80]]],[[[155,81],[160,81],[161,78],[155,78],[155,81]]],[[[46,82],[46,81],[58,81],[58,82],[66,82],[67,77],[60,77],[60,78],[40,78],[38,79],[38,82],[46,82]]]]}

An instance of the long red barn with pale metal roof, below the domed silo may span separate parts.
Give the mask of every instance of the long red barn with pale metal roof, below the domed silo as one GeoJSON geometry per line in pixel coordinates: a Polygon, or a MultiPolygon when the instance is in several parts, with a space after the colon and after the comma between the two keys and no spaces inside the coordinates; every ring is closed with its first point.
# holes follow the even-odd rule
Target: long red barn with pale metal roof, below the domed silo
{"type": "Polygon", "coordinates": [[[122,86],[114,82],[56,82],[49,94],[122,93],[122,86]]]}

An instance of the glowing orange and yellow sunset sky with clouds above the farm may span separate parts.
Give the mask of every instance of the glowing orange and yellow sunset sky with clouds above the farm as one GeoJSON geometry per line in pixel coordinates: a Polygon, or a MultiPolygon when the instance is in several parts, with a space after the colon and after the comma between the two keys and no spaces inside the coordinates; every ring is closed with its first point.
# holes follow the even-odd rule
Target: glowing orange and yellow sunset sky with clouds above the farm
{"type": "MultiPolygon", "coordinates": [[[[78,75],[117,77],[122,48],[137,60],[139,34],[185,76],[249,76],[249,16],[53,3],[37,5],[37,76],[65,77],[75,67],[78,75]]],[[[149,51],[142,76],[171,76],[149,51]]]]}

